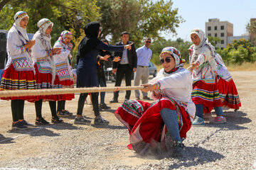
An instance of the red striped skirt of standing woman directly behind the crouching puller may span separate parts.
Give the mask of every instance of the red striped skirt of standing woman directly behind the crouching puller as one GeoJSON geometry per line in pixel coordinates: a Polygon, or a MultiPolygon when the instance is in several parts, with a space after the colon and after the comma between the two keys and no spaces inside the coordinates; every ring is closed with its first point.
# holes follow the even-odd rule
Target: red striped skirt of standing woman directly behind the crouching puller
{"type": "Polygon", "coordinates": [[[191,94],[193,103],[203,104],[203,113],[209,113],[208,108],[221,106],[218,84],[206,84],[196,81],[191,94]]]}

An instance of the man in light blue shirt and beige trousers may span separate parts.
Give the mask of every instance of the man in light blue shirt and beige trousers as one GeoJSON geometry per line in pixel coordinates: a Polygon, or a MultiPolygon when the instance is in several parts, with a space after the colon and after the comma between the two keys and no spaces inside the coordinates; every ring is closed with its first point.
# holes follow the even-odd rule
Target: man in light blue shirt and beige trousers
{"type": "MultiPolygon", "coordinates": [[[[152,57],[152,51],[149,46],[151,45],[151,38],[146,38],[144,41],[144,46],[139,47],[137,52],[138,63],[137,72],[134,75],[134,86],[139,86],[139,81],[142,80],[142,84],[147,84],[149,81],[149,61],[152,57]]],[[[147,92],[143,92],[143,99],[150,100],[147,96],[147,92]]],[[[135,90],[135,98],[139,100],[139,90],[135,90]]]]}

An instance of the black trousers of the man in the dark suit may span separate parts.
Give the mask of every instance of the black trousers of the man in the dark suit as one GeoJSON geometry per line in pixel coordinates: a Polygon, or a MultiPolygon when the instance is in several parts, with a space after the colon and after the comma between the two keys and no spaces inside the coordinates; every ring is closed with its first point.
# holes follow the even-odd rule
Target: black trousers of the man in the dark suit
{"type": "MultiPolygon", "coordinates": [[[[125,86],[131,86],[132,72],[133,72],[133,68],[131,68],[129,64],[119,64],[117,67],[116,83],[114,86],[121,86],[124,75],[125,75],[125,86]]],[[[118,96],[119,96],[119,91],[115,91],[114,99],[117,99],[118,96]]],[[[130,96],[131,96],[131,91],[126,91],[125,99],[129,100],[130,96]]]]}

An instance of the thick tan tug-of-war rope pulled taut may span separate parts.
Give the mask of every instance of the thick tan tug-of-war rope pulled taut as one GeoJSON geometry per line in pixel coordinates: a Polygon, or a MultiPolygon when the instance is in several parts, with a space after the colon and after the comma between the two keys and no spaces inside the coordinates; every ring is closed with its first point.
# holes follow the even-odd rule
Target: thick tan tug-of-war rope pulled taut
{"type": "Polygon", "coordinates": [[[140,89],[144,89],[144,86],[10,90],[10,91],[0,91],[0,97],[7,98],[7,97],[21,97],[21,96],[45,96],[45,95],[56,95],[56,94],[95,93],[95,92],[102,92],[102,91],[127,91],[127,90],[140,90],[140,89]]]}

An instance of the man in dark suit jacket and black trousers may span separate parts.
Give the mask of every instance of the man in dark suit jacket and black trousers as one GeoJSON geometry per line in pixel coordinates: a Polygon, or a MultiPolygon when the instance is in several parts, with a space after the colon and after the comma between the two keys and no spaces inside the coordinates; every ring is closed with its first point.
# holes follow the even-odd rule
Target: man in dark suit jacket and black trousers
{"type": "MultiPolygon", "coordinates": [[[[121,33],[121,41],[117,42],[116,45],[129,45],[133,42],[129,41],[129,33],[124,31],[121,33]]],[[[121,86],[122,79],[125,75],[125,85],[131,86],[132,84],[132,72],[137,70],[137,54],[134,44],[132,50],[124,49],[122,52],[114,52],[114,57],[120,57],[119,62],[113,62],[113,74],[116,73],[116,82],[114,86],[121,86]]],[[[118,103],[119,91],[114,91],[114,98],[110,103],[118,103]]],[[[125,100],[129,100],[131,91],[126,91],[125,100]]]]}

